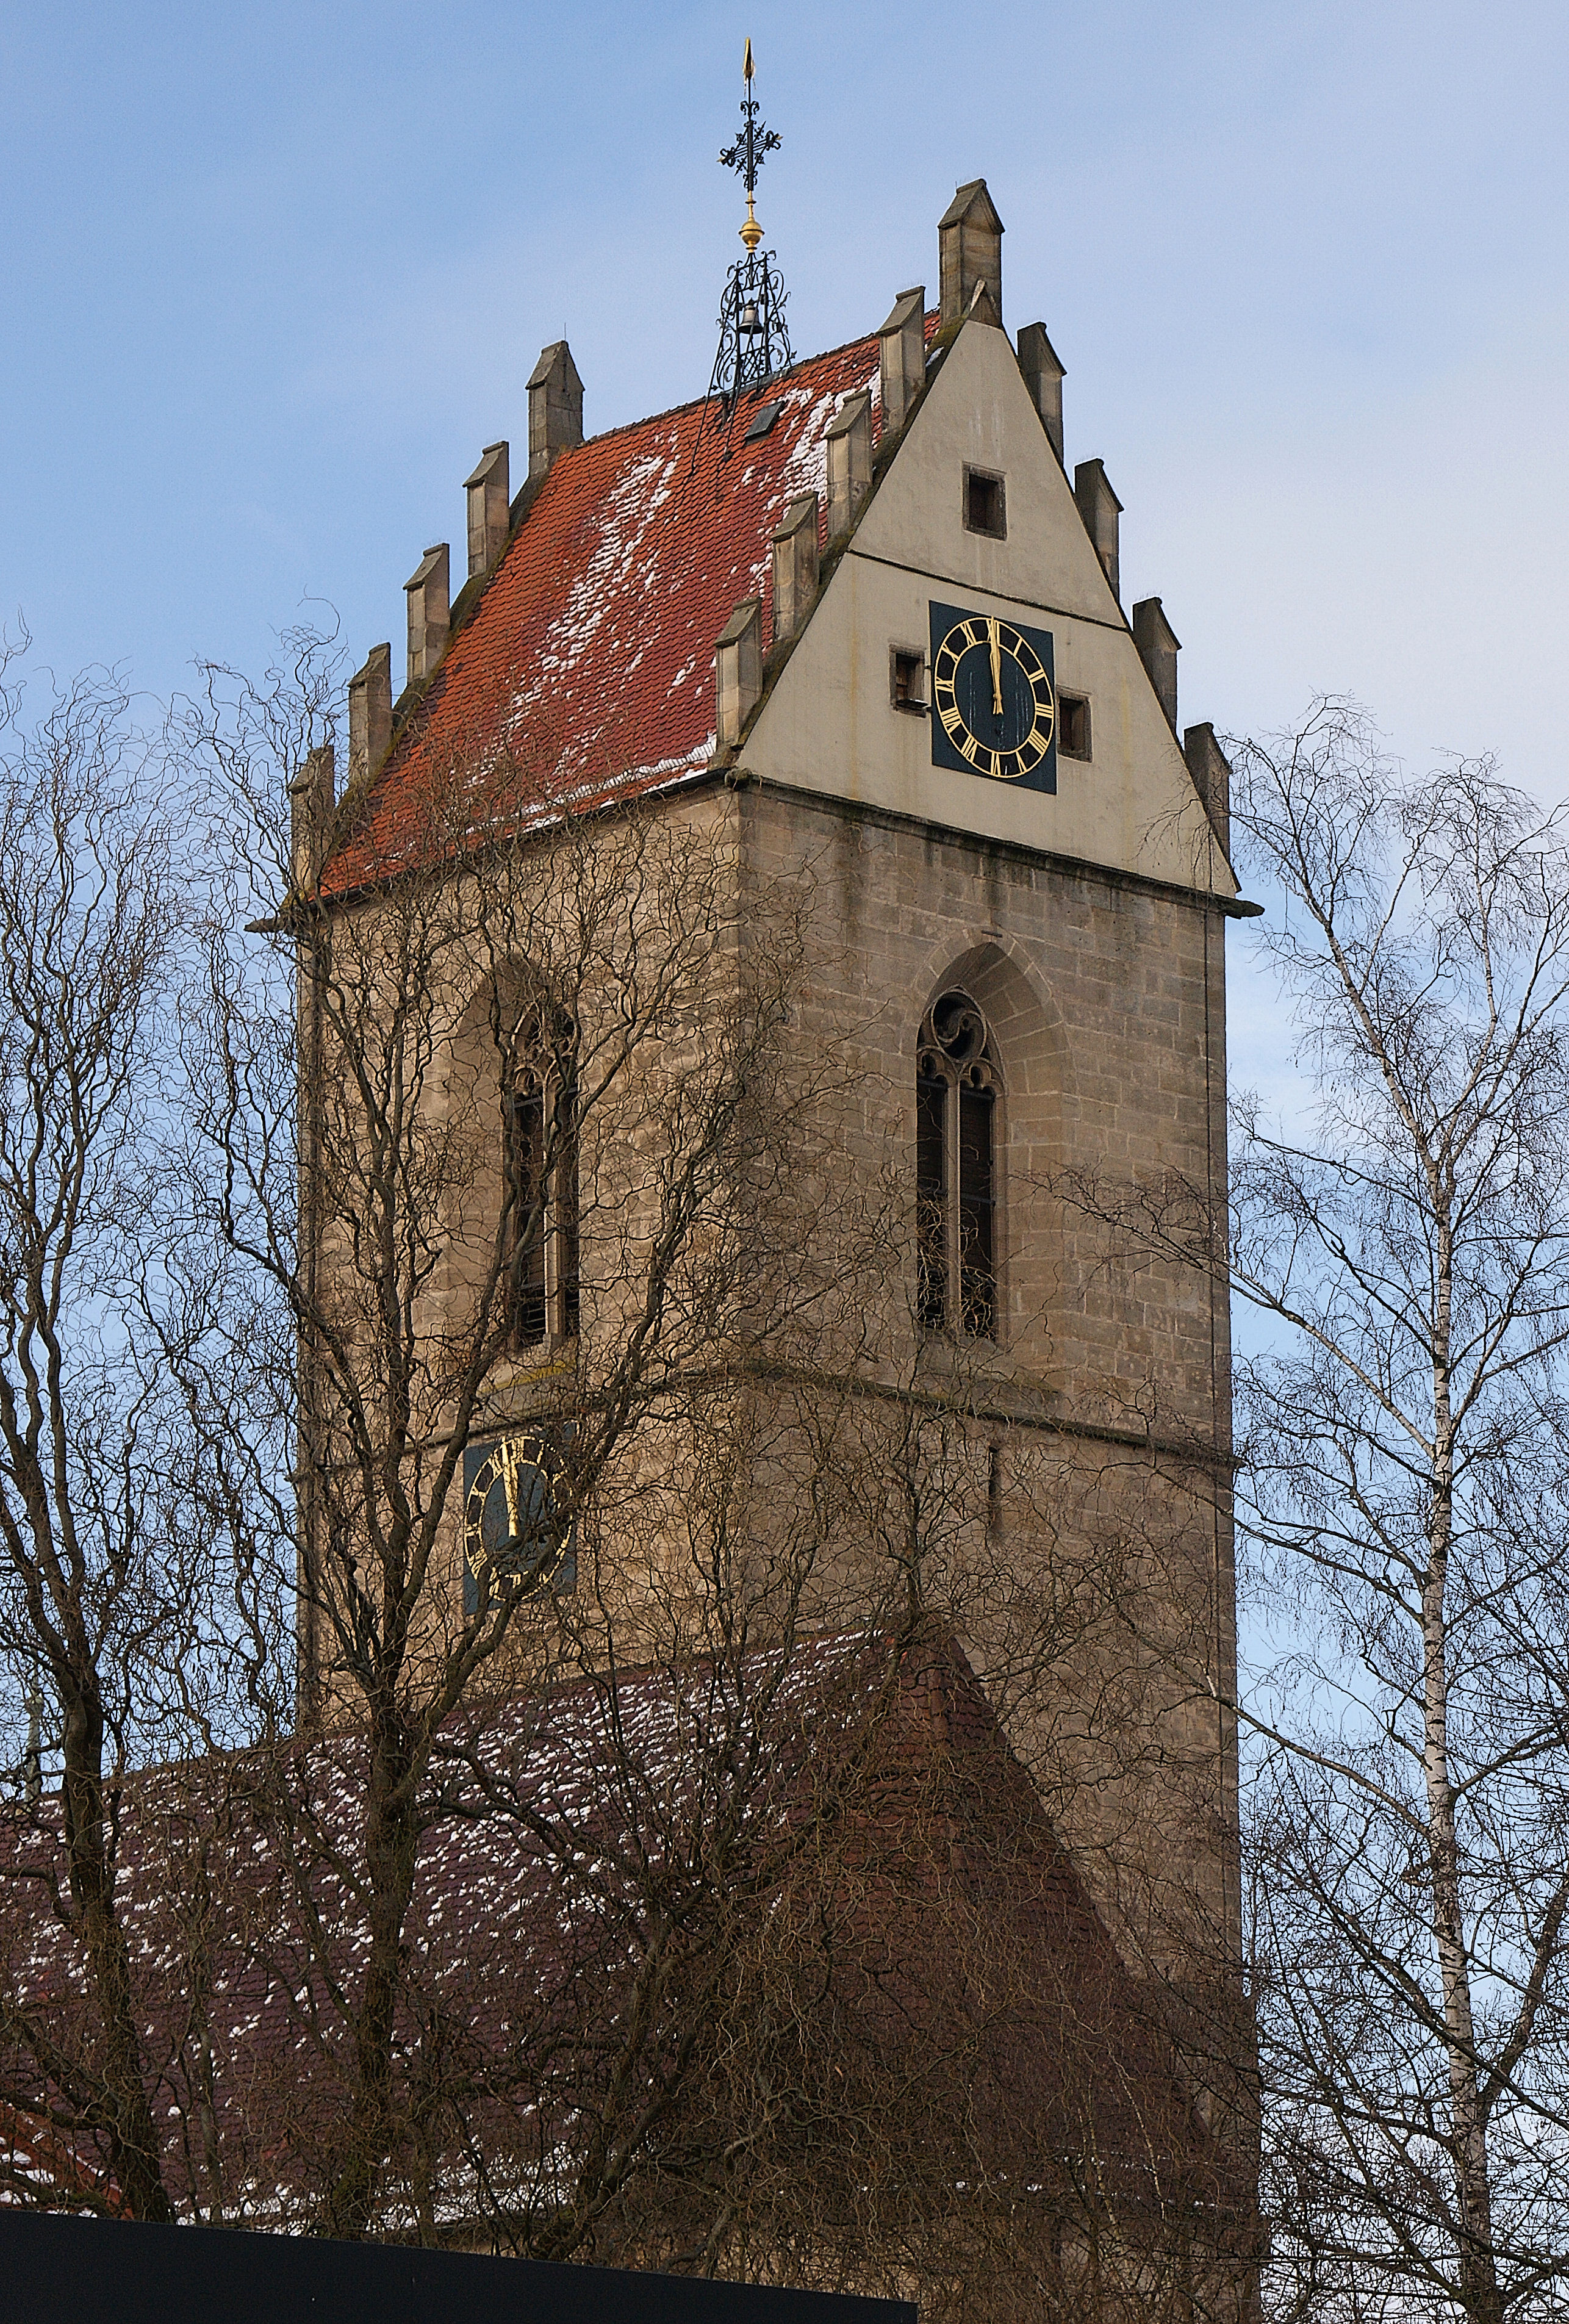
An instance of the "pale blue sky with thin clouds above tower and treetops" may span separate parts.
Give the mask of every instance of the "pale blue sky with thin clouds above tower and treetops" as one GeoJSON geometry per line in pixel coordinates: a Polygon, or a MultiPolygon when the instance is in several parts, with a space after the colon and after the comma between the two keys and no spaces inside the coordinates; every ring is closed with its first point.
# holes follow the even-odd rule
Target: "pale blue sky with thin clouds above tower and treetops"
{"type": "Polygon", "coordinates": [[[1562,0],[14,0],[0,607],[40,658],[163,695],[316,597],[400,667],[546,339],[590,430],[707,386],[746,33],[797,349],[934,284],[986,174],[1183,718],[1355,690],[1418,762],[1564,792],[1562,0]]]}

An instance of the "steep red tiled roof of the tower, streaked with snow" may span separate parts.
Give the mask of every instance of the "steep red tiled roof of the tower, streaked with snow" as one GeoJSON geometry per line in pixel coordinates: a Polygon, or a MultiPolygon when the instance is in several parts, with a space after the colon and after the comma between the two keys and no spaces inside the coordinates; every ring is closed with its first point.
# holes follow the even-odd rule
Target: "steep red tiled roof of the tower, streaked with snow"
{"type": "MultiPolygon", "coordinates": [[[[927,337],[937,316],[927,316],[927,337]]],[[[788,500],[825,502],[828,423],[872,390],[876,337],[800,363],[741,402],[683,404],[558,453],[483,600],[442,660],[323,876],[342,895],[421,858],[432,832],[460,834],[456,790],[477,820],[502,804],[560,809],[653,788],[714,753],[714,641],[744,597],[765,602],[769,541],[788,500]],[[758,442],[765,402],[779,418],[758,442]],[[456,809],[456,813],[453,813],[456,809]]],[[[449,837],[446,844],[453,844],[449,837]]]]}

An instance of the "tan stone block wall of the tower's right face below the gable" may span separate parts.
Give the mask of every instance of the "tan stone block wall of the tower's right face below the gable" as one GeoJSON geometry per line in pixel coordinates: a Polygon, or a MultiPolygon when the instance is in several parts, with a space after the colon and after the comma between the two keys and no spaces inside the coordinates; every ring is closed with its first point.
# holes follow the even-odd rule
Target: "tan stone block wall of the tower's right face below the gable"
{"type": "MultiPolygon", "coordinates": [[[[1172,1178],[1223,1215],[1225,923],[1199,895],[883,811],[741,799],[748,867],[816,890],[800,1037],[848,1039],[865,1076],[848,1167],[914,1190],[925,1009],[958,983],[990,1020],[1004,1315],[997,1346],[965,1350],[962,1397],[995,1422],[1004,1480],[1034,1480],[1004,1511],[1020,1583],[1102,1559],[1120,1599],[1065,1636],[1048,1710],[1020,1690],[1013,1741],[1134,1950],[1178,1968],[1190,1943],[1234,1952],[1225,1290],[1086,1215],[1090,1185],[1116,1202],[1172,1178]]],[[[907,1267],[909,1308],[914,1248],[907,1267]]],[[[988,1662],[986,1636],[967,1645],[988,1662]]]]}

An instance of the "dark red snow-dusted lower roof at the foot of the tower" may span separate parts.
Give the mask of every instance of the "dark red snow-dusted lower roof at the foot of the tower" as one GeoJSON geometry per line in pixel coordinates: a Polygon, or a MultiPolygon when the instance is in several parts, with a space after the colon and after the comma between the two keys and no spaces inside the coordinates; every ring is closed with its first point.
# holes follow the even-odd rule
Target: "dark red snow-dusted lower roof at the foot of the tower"
{"type": "MultiPolygon", "coordinates": [[[[1074,2152],[1095,2159],[1106,2189],[1155,2208],[1172,2196],[1234,2203],[1237,2178],[1192,2113],[1160,2013],[1123,1968],[965,1657],[944,1641],[911,1650],[890,1710],[879,1708],[888,1657],[874,1634],[800,1645],[774,1694],[769,1659],[755,1659],[758,1671],[695,1664],[614,1685],[576,1680],[483,1717],[460,1713],[444,1731],[428,1810],[442,1796],[456,1813],[437,1810],[423,1834],[404,1948],[409,2006],[444,2027],[477,2138],[442,2161],[449,2217],[483,2210],[479,2154],[490,2199],[504,2187],[514,2205],[549,2208],[572,2122],[595,2106],[616,2119],[597,2078],[616,2064],[667,1887],[686,1894],[690,1873],[700,1899],[690,1941],[702,1948],[714,1934],[700,1868],[728,1787],[739,1785],[746,1824],[772,1859],[814,1787],[837,1783],[841,1755],[855,1759],[867,1743],[837,1836],[830,1817],[823,1845],[786,1852],[779,1887],[769,1882],[765,1966],[779,1980],[769,1992],[783,2006],[800,1971],[816,1994],[800,2001],[800,2029],[811,2033],[800,2071],[816,2061],[834,2087],[860,2087],[858,2103],[881,2110],[876,2094],[897,2061],[904,2129],[920,2150],[951,2140],[953,2185],[976,2164],[1018,2168],[1020,2157],[1034,2180],[1051,2157],[1074,2152]],[[732,1727],[735,1752],[714,1741],[732,1727]],[[746,1759],[748,1736],[765,1748],[751,1776],[737,1776],[730,1759],[746,1759]],[[465,1776],[481,1764],[516,1813],[483,1813],[465,1776]],[[818,1994],[823,1929],[837,1968],[818,1994]],[[955,1931],[972,1950],[955,1950],[955,1931]],[[997,1985],[986,2006],[979,1931],[997,1985]]],[[[121,1917],[177,2208],[202,2201],[193,2126],[207,2103],[205,2052],[193,2029],[205,2027],[230,2217],[279,2224],[309,2219],[342,2168],[344,1996],[356,1994],[367,1952],[365,1755],[356,1738],[335,1738],[291,1759],[284,1824],[284,1792],[263,1773],[216,1759],[132,1783],[121,1917]],[[307,1943],[281,1829],[314,1834],[311,1899],[330,1964],[307,1943]],[[193,1920],[195,1862],[207,1885],[193,1920]]],[[[53,1915],[42,1880],[14,1878],[58,1862],[56,1834],[58,1801],[0,1810],[0,1989],[21,2008],[0,2071],[30,2106],[49,2094],[37,2080],[19,2087],[23,2022],[46,2033],[51,2059],[93,2054],[79,1936],[53,1915]]],[[[681,1992],[676,1980],[676,2017],[655,2017],[637,2052],[642,2073],[658,2068],[672,2024],[681,2029],[681,1992]]],[[[690,2103],[704,2087],[697,2073],[690,2103]]],[[[679,2145],[679,2122],[669,2136],[679,2145]]],[[[393,2210],[397,2201],[395,2171],[393,2210]]]]}

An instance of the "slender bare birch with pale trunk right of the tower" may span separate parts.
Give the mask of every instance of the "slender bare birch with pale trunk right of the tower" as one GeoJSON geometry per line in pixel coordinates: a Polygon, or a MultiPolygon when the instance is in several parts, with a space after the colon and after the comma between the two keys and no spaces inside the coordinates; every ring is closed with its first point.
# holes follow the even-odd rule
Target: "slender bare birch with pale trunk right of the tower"
{"type": "Polygon", "coordinates": [[[1292,1120],[1099,1204],[1230,1264],[1264,2208],[1283,2312],[1560,2312],[1569,2261],[1569,846],[1318,702],[1234,746],[1292,1120]]]}

